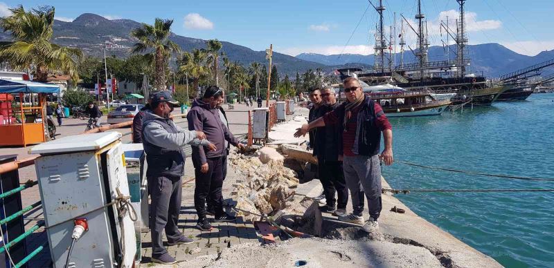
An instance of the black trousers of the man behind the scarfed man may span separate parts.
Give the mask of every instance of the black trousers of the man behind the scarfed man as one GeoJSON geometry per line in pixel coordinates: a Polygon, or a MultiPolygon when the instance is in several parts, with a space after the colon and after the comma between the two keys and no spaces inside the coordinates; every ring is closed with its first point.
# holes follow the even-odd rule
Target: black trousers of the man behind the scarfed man
{"type": "Polygon", "coordinates": [[[348,203],[348,187],[344,180],[344,173],[341,161],[325,161],[318,157],[318,177],[323,186],[323,194],[327,205],[334,207],[337,202],[337,209],[346,209],[348,203]],[[337,192],[338,200],[335,200],[334,193],[337,192]]]}

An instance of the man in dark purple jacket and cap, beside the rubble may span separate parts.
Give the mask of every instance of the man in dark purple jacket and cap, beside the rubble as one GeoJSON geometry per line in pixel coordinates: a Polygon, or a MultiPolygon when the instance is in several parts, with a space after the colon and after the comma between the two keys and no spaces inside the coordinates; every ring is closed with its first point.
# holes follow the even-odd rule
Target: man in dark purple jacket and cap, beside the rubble
{"type": "Polygon", "coordinates": [[[224,126],[220,117],[220,109],[217,106],[222,102],[222,90],[217,86],[206,88],[202,99],[195,99],[193,108],[187,115],[188,129],[190,131],[203,131],[206,138],[217,147],[215,151],[206,151],[203,148],[193,146],[193,165],[195,166],[195,209],[198,215],[197,228],[202,231],[212,229],[206,218],[206,198],[210,195],[213,202],[215,222],[230,222],[235,216],[223,211],[223,157],[225,141],[243,148],[233,136],[231,131],[224,126]]]}

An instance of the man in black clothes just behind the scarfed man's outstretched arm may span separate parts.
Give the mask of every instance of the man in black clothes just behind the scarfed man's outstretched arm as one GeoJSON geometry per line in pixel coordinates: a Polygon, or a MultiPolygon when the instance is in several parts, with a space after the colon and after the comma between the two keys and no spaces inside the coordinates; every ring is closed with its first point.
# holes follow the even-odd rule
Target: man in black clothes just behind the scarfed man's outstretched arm
{"type": "MultiPolygon", "coordinates": [[[[321,97],[323,105],[319,108],[319,115],[323,116],[339,106],[333,88],[323,88],[321,97]]],[[[316,131],[314,155],[317,157],[318,177],[323,186],[325,200],[327,200],[325,206],[319,207],[319,209],[321,212],[332,213],[334,216],[346,216],[348,188],[344,180],[338,146],[342,130],[337,124],[329,124],[316,128],[316,131]],[[338,202],[335,200],[335,193],[337,193],[338,202]]]]}

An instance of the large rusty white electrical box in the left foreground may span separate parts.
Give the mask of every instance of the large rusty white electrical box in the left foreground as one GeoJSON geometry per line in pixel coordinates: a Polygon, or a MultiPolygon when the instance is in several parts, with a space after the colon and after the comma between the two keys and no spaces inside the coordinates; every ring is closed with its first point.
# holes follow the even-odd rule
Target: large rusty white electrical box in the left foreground
{"type": "Polygon", "coordinates": [[[67,267],[132,267],[134,216],[115,202],[129,196],[125,155],[117,132],[62,137],[39,144],[35,160],[53,267],[64,267],[73,218],[88,230],[75,242],[67,267]]]}

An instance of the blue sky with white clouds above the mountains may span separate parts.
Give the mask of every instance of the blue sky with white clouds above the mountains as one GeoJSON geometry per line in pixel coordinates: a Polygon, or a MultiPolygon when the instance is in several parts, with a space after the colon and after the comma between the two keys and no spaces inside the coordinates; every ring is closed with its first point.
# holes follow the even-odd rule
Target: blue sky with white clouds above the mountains
{"type": "MultiPolygon", "coordinates": [[[[378,6],[379,0],[370,0],[378,6]]],[[[387,32],[397,17],[397,35],[402,17],[415,24],[415,0],[384,0],[387,32]]],[[[467,0],[465,3],[470,44],[499,43],[524,55],[537,55],[554,49],[554,1],[524,4],[518,0],[467,0]],[[538,18],[538,19],[537,19],[538,18]]],[[[56,19],[72,21],[82,13],[95,13],[107,19],[132,19],[153,23],[156,17],[174,19],[177,35],[200,39],[220,39],[253,50],[274,50],[288,55],[314,52],[323,55],[341,53],[373,54],[377,12],[367,0],[166,0],[166,1],[1,1],[0,17],[8,8],[23,4],[55,7],[56,19]]],[[[440,21],[449,26],[458,16],[456,0],[422,0],[431,45],[447,42],[440,21]]],[[[406,43],[415,44],[416,35],[404,21],[406,43]]],[[[388,34],[387,34],[388,35],[388,34]]],[[[398,39],[396,40],[398,43],[398,39]]],[[[453,44],[452,39],[449,44],[453,44]]],[[[398,47],[400,50],[400,47],[398,47]]],[[[406,48],[407,50],[407,48],[406,48]]]]}

